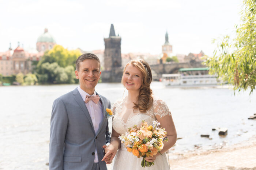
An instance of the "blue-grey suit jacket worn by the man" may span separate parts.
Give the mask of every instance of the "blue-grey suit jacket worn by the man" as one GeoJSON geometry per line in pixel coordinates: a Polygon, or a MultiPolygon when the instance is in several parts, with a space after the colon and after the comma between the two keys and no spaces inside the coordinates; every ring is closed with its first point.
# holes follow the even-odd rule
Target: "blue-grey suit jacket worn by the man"
{"type": "Polygon", "coordinates": [[[95,149],[99,166],[106,170],[102,146],[110,141],[106,108],[110,101],[99,95],[102,103],[103,120],[97,133],[93,128],[90,114],[77,88],[53,102],[50,126],[50,170],[91,170],[95,149]]]}

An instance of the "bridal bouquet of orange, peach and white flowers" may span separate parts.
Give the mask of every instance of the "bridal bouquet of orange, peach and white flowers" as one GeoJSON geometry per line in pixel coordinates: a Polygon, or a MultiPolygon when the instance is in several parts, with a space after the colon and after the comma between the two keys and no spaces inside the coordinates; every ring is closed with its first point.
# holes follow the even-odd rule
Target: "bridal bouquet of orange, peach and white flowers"
{"type": "Polygon", "coordinates": [[[156,155],[163,149],[163,141],[167,141],[165,128],[158,128],[158,125],[160,123],[153,121],[153,126],[148,126],[143,120],[140,129],[135,125],[128,129],[129,132],[118,137],[128,152],[138,158],[143,157],[142,167],[154,165],[154,162],[148,162],[145,158],[156,155]]]}

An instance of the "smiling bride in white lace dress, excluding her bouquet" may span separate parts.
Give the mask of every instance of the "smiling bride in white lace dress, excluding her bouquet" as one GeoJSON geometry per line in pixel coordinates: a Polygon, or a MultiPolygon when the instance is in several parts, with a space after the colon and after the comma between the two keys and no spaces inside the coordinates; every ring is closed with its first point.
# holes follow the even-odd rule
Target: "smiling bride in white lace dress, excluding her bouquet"
{"type": "Polygon", "coordinates": [[[132,60],[124,69],[122,83],[128,90],[128,96],[117,100],[113,105],[114,118],[112,121],[112,137],[109,146],[105,146],[105,156],[102,161],[107,164],[113,163],[113,170],[169,170],[168,161],[165,152],[170,149],[177,140],[176,129],[173,123],[172,115],[166,103],[152,95],[150,83],[152,74],[150,66],[144,60],[132,60]],[[154,157],[147,157],[146,161],[153,162],[151,167],[142,167],[142,158],[135,157],[129,153],[125,146],[121,144],[118,137],[128,128],[137,125],[140,127],[142,120],[148,125],[152,125],[157,120],[167,131],[168,142],[163,142],[164,147],[154,157]]]}

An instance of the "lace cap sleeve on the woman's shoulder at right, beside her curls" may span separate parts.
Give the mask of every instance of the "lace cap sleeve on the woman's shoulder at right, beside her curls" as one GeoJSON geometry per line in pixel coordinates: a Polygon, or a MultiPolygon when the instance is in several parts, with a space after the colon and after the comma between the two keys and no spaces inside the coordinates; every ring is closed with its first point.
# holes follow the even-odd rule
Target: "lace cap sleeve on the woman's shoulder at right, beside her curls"
{"type": "Polygon", "coordinates": [[[154,115],[160,116],[161,118],[166,115],[171,115],[171,112],[167,104],[162,99],[155,99],[153,101],[154,115]]]}

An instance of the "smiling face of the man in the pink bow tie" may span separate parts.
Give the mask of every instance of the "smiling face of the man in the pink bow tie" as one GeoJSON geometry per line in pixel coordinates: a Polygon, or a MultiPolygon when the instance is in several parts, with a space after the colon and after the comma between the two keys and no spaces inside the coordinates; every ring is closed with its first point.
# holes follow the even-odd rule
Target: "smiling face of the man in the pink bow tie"
{"type": "Polygon", "coordinates": [[[79,71],[76,70],[75,74],[76,78],[79,79],[82,90],[92,95],[101,75],[99,62],[93,59],[85,59],[80,62],[79,71]]]}

